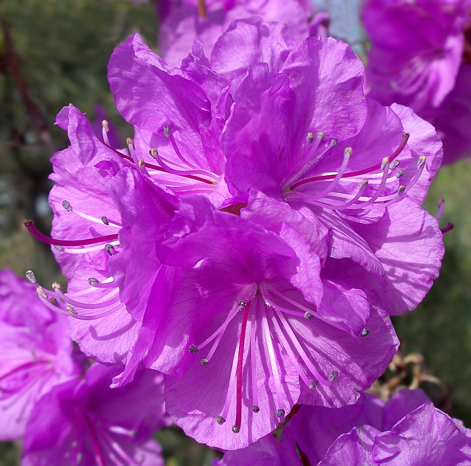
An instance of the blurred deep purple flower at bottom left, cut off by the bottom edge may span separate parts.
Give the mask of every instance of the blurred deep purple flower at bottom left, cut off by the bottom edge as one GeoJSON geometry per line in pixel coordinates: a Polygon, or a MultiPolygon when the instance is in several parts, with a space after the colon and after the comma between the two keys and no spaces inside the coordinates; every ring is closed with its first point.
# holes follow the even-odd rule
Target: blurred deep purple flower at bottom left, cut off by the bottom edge
{"type": "Polygon", "coordinates": [[[161,375],[142,370],[110,389],[113,367],[94,364],[84,379],[55,386],[26,426],[22,465],[163,465],[153,432],[168,425],[161,375]]]}

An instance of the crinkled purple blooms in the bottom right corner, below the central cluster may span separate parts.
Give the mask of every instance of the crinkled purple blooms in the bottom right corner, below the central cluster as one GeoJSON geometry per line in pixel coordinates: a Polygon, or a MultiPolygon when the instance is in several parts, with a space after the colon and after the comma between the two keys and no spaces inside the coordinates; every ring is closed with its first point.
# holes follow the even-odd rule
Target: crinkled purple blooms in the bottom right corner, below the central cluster
{"type": "Polygon", "coordinates": [[[421,390],[401,390],[387,403],[362,395],[344,408],[305,405],[291,417],[280,443],[268,435],[212,465],[464,466],[471,460],[471,431],[421,390]]]}

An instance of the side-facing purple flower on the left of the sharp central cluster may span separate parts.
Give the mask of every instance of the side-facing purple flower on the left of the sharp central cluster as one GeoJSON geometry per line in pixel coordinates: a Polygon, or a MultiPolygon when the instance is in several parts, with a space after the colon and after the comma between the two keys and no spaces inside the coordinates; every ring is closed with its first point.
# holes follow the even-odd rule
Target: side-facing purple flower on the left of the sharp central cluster
{"type": "MultiPolygon", "coordinates": [[[[54,244],[70,281],[67,293],[53,285],[40,299],[70,317],[72,337],[89,356],[122,362],[159,269],[156,232],[177,204],[137,159],[111,149],[105,132],[103,141],[96,137],[77,109],[64,108],[57,122],[71,145],[52,158],[54,239],[33,233],[54,244]]],[[[131,142],[129,150],[135,158],[131,142]]]]}

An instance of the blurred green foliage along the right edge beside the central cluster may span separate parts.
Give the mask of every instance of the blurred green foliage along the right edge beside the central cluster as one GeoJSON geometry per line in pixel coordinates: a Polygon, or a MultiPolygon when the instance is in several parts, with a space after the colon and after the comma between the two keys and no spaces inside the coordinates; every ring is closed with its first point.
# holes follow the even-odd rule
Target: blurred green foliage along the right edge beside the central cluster
{"type": "Polygon", "coordinates": [[[440,168],[424,207],[437,212],[445,199],[440,226],[454,225],[444,234],[445,257],[439,278],[419,307],[393,319],[407,354],[418,351],[450,390],[451,412],[471,426],[471,161],[440,168]]]}

